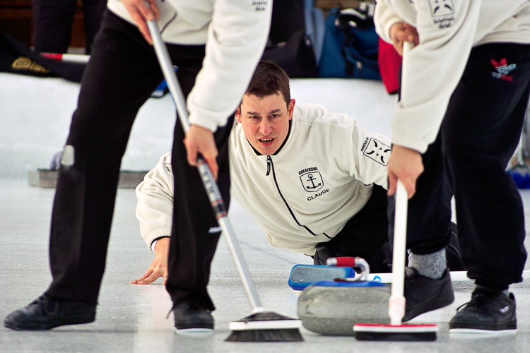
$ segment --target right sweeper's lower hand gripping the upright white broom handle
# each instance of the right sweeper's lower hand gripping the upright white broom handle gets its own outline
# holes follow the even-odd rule
[[[423,160],[420,152],[400,145],[392,146],[388,162],[388,195],[394,195],[399,179],[407,189],[408,198],[412,198],[416,193],[416,180],[422,173]]]

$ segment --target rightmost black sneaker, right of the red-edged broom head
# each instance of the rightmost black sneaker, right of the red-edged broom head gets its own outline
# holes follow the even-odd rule
[[[449,321],[449,332],[516,330],[515,297],[500,289],[476,286],[471,301],[461,305]]]

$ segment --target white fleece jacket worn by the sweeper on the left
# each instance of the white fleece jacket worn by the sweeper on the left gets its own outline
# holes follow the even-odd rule
[[[206,57],[189,93],[189,123],[216,131],[235,111],[264,51],[272,0],[157,0],[162,38],[206,44]],[[108,8],[134,23],[120,0]]]

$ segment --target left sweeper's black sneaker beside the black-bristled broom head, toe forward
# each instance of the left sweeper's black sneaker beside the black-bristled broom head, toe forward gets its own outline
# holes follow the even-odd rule
[[[213,317],[208,309],[194,299],[182,299],[173,306],[178,332],[211,333]]]

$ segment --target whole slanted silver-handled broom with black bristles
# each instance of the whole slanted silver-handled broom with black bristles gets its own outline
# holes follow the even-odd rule
[[[177,106],[179,120],[184,132],[187,132],[189,130],[189,124],[186,102],[184,101],[184,94],[177,81],[177,77],[175,76],[175,71],[173,71],[172,62],[167,53],[167,47],[160,38],[157,24],[154,21],[147,21],[147,25],[149,32],[151,33],[153,47],[158,62],[160,63],[160,68],[162,68],[164,78],[167,81],[167,86],[173,100],[175,101],[175,105]],[[252,305],[251,315],[242,318],[240,321],[234,321],[229,324],[232,333],[226,338],[226,340],[231,342],[286,342],[304,340],[300,334],[302,321],[288,318],[287,316],[273,313],[271,311],[265,311],[259,300],[254,283],[249,275],[247,264],[245,263],[239,243],[235,237],[234,229],[228,219],[225,203],[220,195],[216,181],[213,179],[211,170],[208,167],[208,164],[206,164],[204,158],[200,156],[197,160],[197,164],[197,169],[199,169],[199,174],[201,174],[204,189],[206,189],[206,193],[208,193],[213,213],[215,213],[219,226],[223,230],[223,235],[228,242],[228,248],[230,249],[230,253],[232,253],[232,258],[234,259],[237,271],[240,274],[243,287],[245,287],[250,304]]]

